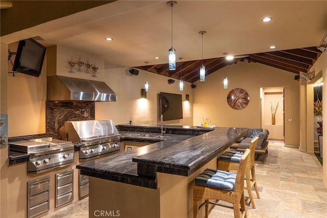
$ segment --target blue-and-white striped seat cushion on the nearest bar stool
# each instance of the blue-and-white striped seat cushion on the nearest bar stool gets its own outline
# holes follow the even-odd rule
[[[212,188],[219,188],[226,191],[233,191],[235,186],[236,173],[222,170],[205,169],[195,178],[196,185]]]

